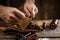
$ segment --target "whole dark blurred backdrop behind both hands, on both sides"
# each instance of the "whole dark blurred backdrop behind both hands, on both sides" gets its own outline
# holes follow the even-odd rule
[[[0,4],[19,7],[25,0],[0,0]],[[60,19],[60,0],[36,0],[39,9],[35,19]]]

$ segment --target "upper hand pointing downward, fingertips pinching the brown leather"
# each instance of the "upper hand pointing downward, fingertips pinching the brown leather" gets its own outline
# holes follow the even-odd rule
[[[38,8],[33,2],[25,2],[24,11],[28,17],[35,17],[35,15],[38,13]]]

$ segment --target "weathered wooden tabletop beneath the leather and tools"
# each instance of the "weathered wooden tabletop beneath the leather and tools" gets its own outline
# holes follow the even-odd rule
[[[46,22],[46,24],[50,23],[51,20],[35,20],[39,22]],[[60,21],[59,21],[60,24]],[[44,30],[42,32],[38,32],[37,35],[39,37],[60,37],[60,25],[55,30]],[[14,40],[15,36],[13,35],[4,35],[0,32],[0,40]]]

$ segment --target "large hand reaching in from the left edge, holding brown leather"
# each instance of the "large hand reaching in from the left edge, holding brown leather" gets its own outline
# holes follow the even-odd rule
[[[25,14],[13,7],[0,6],[0,18],[6,23],[19,21],[25,19]]]

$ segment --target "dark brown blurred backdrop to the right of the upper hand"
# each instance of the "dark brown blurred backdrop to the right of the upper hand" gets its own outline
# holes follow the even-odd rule
[[[39,9],[35,19],[60,19],[60,0],[36,0]]]

